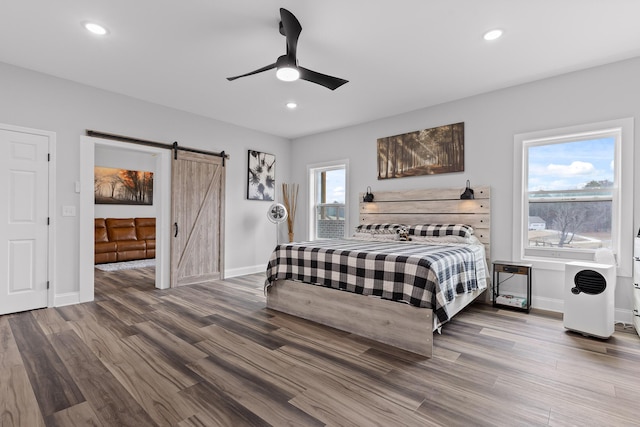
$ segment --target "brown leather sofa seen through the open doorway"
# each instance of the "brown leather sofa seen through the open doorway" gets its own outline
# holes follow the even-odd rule
[[[155,218],[95,219],[96,264],[155,257]]]

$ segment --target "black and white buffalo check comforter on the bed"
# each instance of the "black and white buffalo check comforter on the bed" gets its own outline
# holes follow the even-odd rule
[[[482,245],[324,240],[281,244],[266,286],[298,280],[433,309],[434,327],[449,320],[456,294],[487,287]]]

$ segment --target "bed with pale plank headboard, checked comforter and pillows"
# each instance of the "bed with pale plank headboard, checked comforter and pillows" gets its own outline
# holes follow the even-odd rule
[[[267,307],[431,357],[433,331],[488,286],[490,192],[474,190],[474,200],[460,200],[460,189],[376,192],[375,202],[360,203],[354,236],[372,227],[386,236],[279,245]],[[424,237],[440,227],[433,224],[449,224],[441,236],[472,228],[472,239]],[[399,227],[412,241],[397,241]]]

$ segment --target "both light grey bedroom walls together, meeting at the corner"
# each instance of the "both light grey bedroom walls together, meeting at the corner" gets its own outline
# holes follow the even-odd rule
[[[225,150],[227,163],[225,271],[237,275],[264,269],[275,244],[273,224],[266,219],[268,202],[246,200],[247,150],[277,156],[277,182],[297,182],[300,203],[296,239],[306,236],[306,166],[336,159],[350,161],[350,206],[358,193],[424,187],[492,187],[492,258],[511,257],[513,224],[513,136],[623,117],[640,128],[640,58],[540,80],[505,90],[389,117],[372,123],[290,141],[174,109],[142,102],[41,73],[0,63],[0,122],[56,132],[57,153],[57,293],[79,289],[78,217],[62,217],[63,205],[78,206],[79,140],[86,129],[211,151]],[[428,84],[426,82],[425,84]],[[203,91],[203,96],[211,96]],[[465,122],[465,172],[377,181],[376,139],[449,123]],[[338,153],[336,155],[335,153]],[[336,157],[337,156],[337,157]],[[637,163],[640,150],[635,150]],[[295,160],[294,160],[295,159]],[[290,165],[290,168],[287,167]],[[640,175],[635,176],[634,233],[640,224]],[[278,197],[280,192],[278,191]],[[631,215],[632,213],[628,213]],[[350,210],[357,224],[358,210]],[[282,227],[286,229],[286,227]],[[282,231],[282,230],[281,230]],[[286,230],[285,230],[286,231]],[[285,232],[282,232],[284,239]],[[631,256],[631,248],[628,248]],[[562,277],[534,271],[533,304],[557,307]],[[616,307],[631,308],[631,280],[621,278]],[[618,316],[617,318],[620,318]]]

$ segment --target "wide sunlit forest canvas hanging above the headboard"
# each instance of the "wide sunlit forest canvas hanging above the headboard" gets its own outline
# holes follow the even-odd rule
[[[378,179],[464,171],[464,122],[378,139]]]

